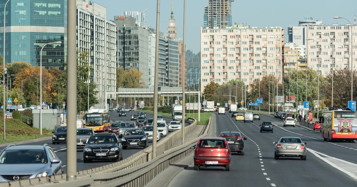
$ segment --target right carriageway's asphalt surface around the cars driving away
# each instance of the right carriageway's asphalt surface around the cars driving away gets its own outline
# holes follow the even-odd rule
[[[243,123],[231,114],[214,115],[208,136],[221,131],[240,131],[245,140],[245,155],[232,154],[231,170],[192,164],[180,172],[169,186],[345,186],[357,182],[357,143],[327,142],[320,131],[301,127],[283,127],[283,121],[261,115],[261,120]],[[271,121],[274,133],[260,133],[259,125]],[[274,159],[274,144],[282,136],[297,136],[307,142],[307,160],[295,157]],[[189,156],[193,156],[192,154]],[[184,179],[184,180],[183,180]]]

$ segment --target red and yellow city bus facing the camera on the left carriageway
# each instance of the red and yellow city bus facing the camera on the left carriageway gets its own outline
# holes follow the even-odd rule
[[[110,126],[109,111],[104,109],[90,109],[84,116],[85,127],[94,131],[106,131]]]

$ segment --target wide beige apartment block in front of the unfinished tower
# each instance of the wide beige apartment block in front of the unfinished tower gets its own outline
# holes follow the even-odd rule
[[[268,74],[281,81],[283,42],[282,27],[201,28],[201,90],[210,81],[250,86]]]

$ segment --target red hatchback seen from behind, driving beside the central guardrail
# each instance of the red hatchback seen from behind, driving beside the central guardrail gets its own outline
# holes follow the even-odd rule
[[[193,156],[194,168],[200,167],[225,167],[229,171],[231,166],[231,150],[224,137],[202,137],[195,146]]]

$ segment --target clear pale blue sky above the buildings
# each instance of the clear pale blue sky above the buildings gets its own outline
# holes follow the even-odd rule
[[[89,1],[89,0],[86,0]],[[114,20],[114,16],[123,15],[123,11],[143,12],[147,9],[146,25],[156,28],[157,0],[93,0],[106,7],[106,19]],[[173,0],[174,18],[177,37],[183,38],[183,3],[184,0]],[[187,50],[193,53],[200,51],[200,28],[203,26],[204,6],[208,0],[186,0],[186,35]],[[312,17],[312,20],[323,21],[325,25],[345,25],[347,20],[354,23],[357,9],[356,0],[325,1],[286,1],[286,0],[235,0],[232,2],[232,23],[245,24],[251,27],[265,28],[298,25],[301,20]],[[171,0],[160,0],[160,31],[167,33],[171,16]],[[333,19],[334,16],[345,19]]]

